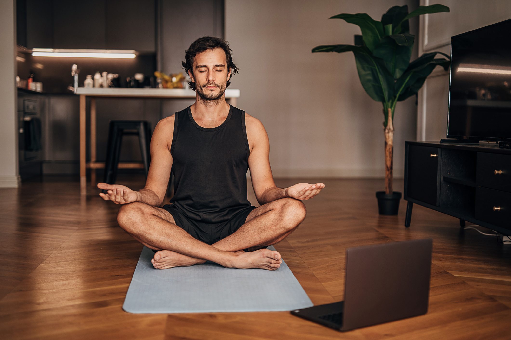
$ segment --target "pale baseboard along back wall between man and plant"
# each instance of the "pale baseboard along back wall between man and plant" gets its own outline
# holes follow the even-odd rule
[[[385,178],[382,168],[365,169],[272,169],[274,178]],[[404,169],[394,169],[394,178],[403,178]],[[250,170],[247,172],[250,178]]]

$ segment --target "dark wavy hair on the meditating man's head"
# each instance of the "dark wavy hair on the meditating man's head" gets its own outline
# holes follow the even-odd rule
[[[186,72],[187,75],[188,75],[189,70],[192,74],[194,74],[193,73],[193,62],[194,62],[195,56],[198,53],[201,53],[205,50],[213,49],[213,48],[217,48],[217,47],[220,47],[224,50],[225,57],[226,57],[225,59],[226,59],[226,63],[227,63],[227,72],[229,72],[229,69],[230,69],[230,77],[227,80],[227,86],[226,86],[226,88],[227,88],[227,87],[229,87],[230,79],[233,77],[233,74],[238,73],[239,69],[233,63],[233,50],[229,48],[229,44],[225,40],[223,40],[221,38],[217,38],[217,37],[211,37],[211,36],[204,36],[204,37],[198,38],[197,40],[192,42],[190,47],[188,47],[188,49],[185,51],[184,61],[181,61],[181,65],[183,66],[184,72]],[[191,79],[188,82],[188,84],[190,85],[190,88],[195,91],[195,83],[192,82]]]

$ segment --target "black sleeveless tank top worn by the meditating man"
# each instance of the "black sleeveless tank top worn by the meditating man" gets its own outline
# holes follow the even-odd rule
[[[190,106],[175,113],[170,203],[195,221],[225,222],[251,205],[245,111],[229,106],[227,119],[213,128],[198,125]]]

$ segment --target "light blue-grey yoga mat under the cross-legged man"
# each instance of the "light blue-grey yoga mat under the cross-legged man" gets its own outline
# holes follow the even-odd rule
[[[212,261],[155,269],[153,256],[144,246],[124,300],[127,312],[283,311],[313,306],[284,259],[277,270],[225,268]]]

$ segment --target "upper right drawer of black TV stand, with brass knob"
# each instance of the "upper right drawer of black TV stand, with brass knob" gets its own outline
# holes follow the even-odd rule
[[[511,155],[477,152],[476,184],[511,192]]]

